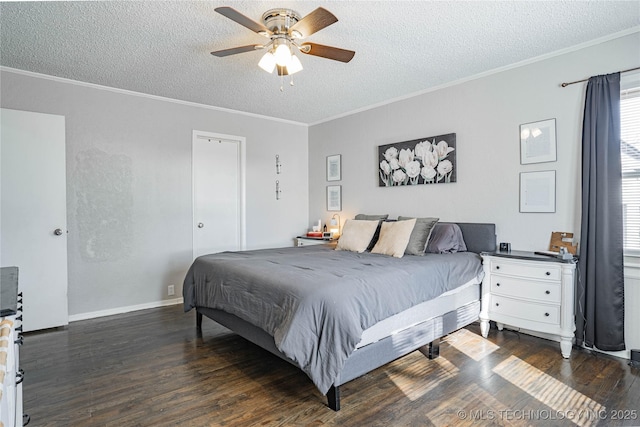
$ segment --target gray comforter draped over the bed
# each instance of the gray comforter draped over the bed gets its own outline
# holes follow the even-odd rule
[[[471,252],[393,258],[325,245],[197,258],[184,309],[221,309],[262,328],[326,394],[363,330],[480,278]]]

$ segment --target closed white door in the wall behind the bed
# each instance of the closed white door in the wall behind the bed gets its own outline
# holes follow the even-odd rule
[[[244,249],[244,140],[193,132],[193,257]]]

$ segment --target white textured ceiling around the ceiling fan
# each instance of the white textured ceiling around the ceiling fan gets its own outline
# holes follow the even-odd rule
[[[262,52],[209,54],[265,40],[218,6],[255,21],[274,7],[304,16],[322,6],[339,21],[305,41],[356,55],[301,55],[304,70],[281,92],[257,66]],[[637,28],[640,1],[2,2],[0,25],[6,67],[317,123]]]

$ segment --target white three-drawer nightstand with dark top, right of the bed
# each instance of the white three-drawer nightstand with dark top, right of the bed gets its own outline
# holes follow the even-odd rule
[[[480,331],[489,333],[493,320],[522,332],[560,342],[564,358],[571,355],[574,331],[576,261],[533,252],[482,253]]]

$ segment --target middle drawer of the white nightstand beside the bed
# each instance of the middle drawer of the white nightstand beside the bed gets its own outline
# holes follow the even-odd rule
[[[510,276],[491,275],[491,293],[551,304],[560,304],[562,301],[559,283]]]

